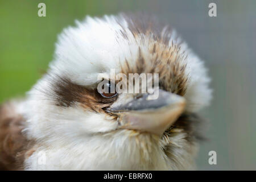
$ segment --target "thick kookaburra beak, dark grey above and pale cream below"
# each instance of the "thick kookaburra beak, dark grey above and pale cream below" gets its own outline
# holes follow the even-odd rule
[[[149,100],[150,94],[139,94],[132,101],[108,110],[119,115],[121,129],[145,131],[162,136],[183,113],[185,99],[159,89],[159,96]]]

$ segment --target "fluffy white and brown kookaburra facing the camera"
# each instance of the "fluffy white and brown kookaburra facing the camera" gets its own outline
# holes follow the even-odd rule
[[[98,75],[110,69],[158,73],[158,98],[99,93]],[[26,98],[1,106],[0,168],[194,169],[209,81],[172,28],[143,16],[87,16],[59,35],[46,75]]]

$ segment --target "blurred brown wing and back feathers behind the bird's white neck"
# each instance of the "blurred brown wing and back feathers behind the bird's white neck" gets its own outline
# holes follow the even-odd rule
[[[0,170],[23,169],[28,146],[22,134],[24,118],[15,112],[15,106],[9,102],[0,107]]]

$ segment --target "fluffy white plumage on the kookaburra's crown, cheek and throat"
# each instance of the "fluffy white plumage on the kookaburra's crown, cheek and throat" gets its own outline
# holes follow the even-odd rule
[[[66,76],[76,84],[88,86],[97,82],[99,73],[109,74],[110,68],[120,71],[119,63],[125,60],[135,64],[139,47],[143,55],[150,55],[148,46],[154,41],[143,34],[135,38],[128,26],[122,15],[104,18],[87,16],[82,22],[76,21],[76,27],[65,28],[59,35],[55,58],[48,73]],[[123,31],[127,38],[123,38]],[[169,46],[179,42],[172,32]],[[188,54],[185,73],[189,75],[189,80],[184,95],[187,100],[186,111],[196,112],[209,104],[209,77],[203,61],[188,49],[187,44],[182,43],[180,46],[180,52]],[[48,102],[40,90],[49,87],[49,79],[46,75],[39,80],[28,92],[27,100],[18,108],[19,113],[27,119],[24,133],[28,139],[38,141],[36,151],[25,161],[26,169],[193,168],[192,156],[195,155],[197,144],[189,144],[184,139],[185,133],[175,135],[171,141],[181,146],[173,151],[180,161],[175,161],[176,158],[167,159],[162,150],[166,142],[164,140],[159,142],[152,135],[142,135],[131,130],[115,131],[117,122],[105,114],[85,111],[79,105],[59,107]],[[131,139],[133,135],[137,136],[137,140]],[[140,148],[148,150],[142,151]],[[192,151],[192,148],[195,152],[190,154],[188,151]],[[42,151],[46,154],[45,165],[38,164]],[[149,163],[143,161],[147,159]]]

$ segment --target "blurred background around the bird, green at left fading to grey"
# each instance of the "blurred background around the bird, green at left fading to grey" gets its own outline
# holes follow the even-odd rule
[[[38,4],[46,3],[46,17]],[[215,2],[217,17],[208,16]],[[256,169],[256,1],[0,0],[0,102],[24,96],[52,60],[57,34],[85,15],[146,12],[168,22],[205,60],[214,89],[198,169]],[[217,152],[209,165],[208,152]]]

